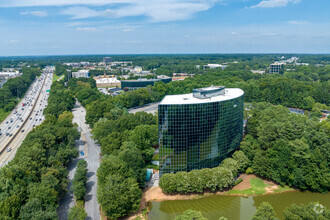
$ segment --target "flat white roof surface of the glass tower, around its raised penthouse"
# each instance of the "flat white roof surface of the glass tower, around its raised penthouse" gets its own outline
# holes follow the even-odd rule
[[[213,89],[218,86],[213,86]],[[220,87],[222,88],[222,87]],[[202,91],[210,91],[212,87],[201,88]],[[199,89],[199,90],[201,90]],[[160,105],[185,105],[185,104],[203,104],[203,103],[212,103],[212,102],[221,102],[230,99],[235,99],[244,94],[244,91],[238,88],[224,88],[224,94],[209,97],[209,98],[196,98],[193,93],[182,94],[182,95],[167,95],[159,103]]]

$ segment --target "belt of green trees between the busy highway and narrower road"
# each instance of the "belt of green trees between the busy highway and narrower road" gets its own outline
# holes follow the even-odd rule
[[[53,115],[49,105],[44,123],[27,135],[15,158],[0,169],[1,219],[58,219],[58,200],[67,190],[66,166],[78,155],[79,138],[67,104],[74,97],[67,94],[61,99],[62,90],[63,85],[55,82],[50,100],[53,106],[67,108]]]

